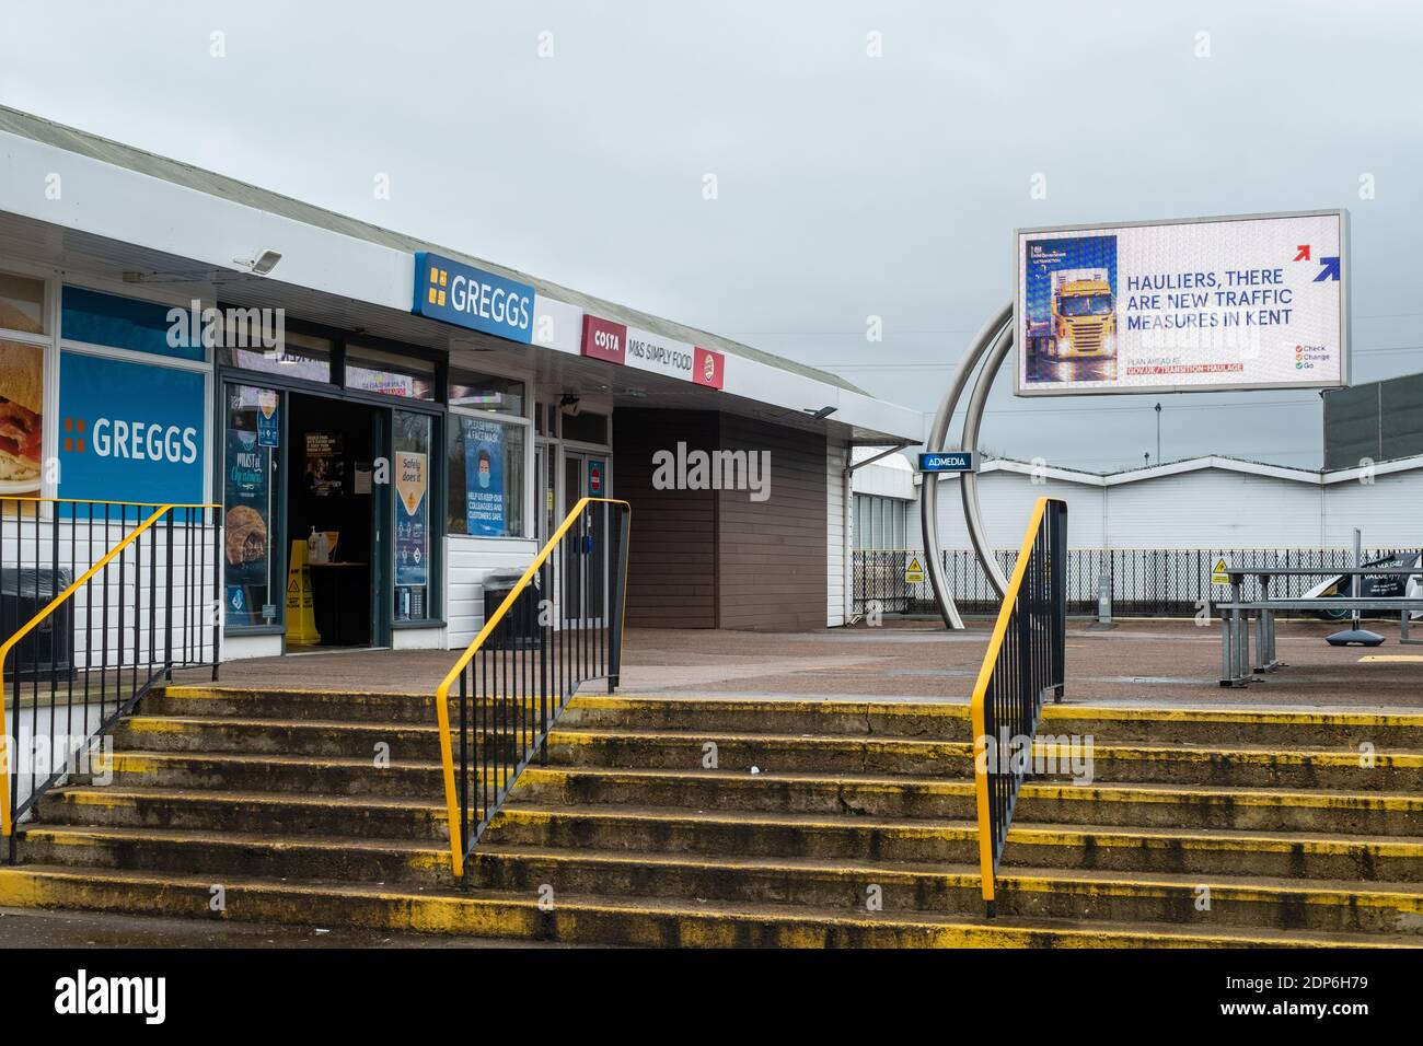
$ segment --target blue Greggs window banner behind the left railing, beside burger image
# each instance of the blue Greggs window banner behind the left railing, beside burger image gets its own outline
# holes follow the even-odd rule
[[[201,373],[60,356],[60,497],[202,501],[208,400]]]

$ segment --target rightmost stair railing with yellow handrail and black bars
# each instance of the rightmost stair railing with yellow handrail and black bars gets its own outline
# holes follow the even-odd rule
[[[969,706],[979,868],[989,915],[995,912],[993,879],[1013,823],[1013,805],[1032,768],[1043,697],[1050,690],[1062,700],[1066,682],[1066,564],[1067,502],[1040,498]]]

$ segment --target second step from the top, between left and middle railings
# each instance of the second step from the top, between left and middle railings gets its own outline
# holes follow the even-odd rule
[[[519,740],[512,731],[472,730],[471,739],[501,740],[508,757]],[[458,744],[458,740],[455,740]],[[128,716],[114,727],[115,749],[148,751],[242,751],[283,756],[340,756],[398,760],[440,759],[433,723],[353,723],[340,720],[233,719],[226,716]]]

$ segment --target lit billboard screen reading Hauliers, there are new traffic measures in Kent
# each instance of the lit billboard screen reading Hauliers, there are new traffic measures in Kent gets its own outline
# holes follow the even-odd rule
[[[1019,229],[1019,396],[1348,384],[1342,211]]]

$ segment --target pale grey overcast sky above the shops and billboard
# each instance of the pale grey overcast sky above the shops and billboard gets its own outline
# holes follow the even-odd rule
[[[1349,208],[1355,380],[1423,370],[1409,0],[44,0],[0,20],[7,105],[925,411],[1029,225]],[[1155,458],[1158,397],[1010,386],[986,447]],[[1204,453],[1318,467],[1319,397],[1164,397],[1163,457]]]

